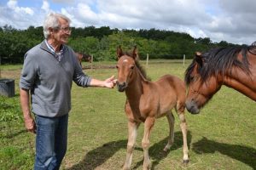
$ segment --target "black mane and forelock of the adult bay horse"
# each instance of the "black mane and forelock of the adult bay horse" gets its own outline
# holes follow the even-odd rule
[[[187,85],[191,82],[190,75],[194,70],[195,65],[198,65],[197,72],[201,76],[201,82],[206,82],[208,77],[217,77],[221,74],[228,73],[233,67],[240,68],[241,71],[250,75],[249,62],[247,60],[247,51],[253,46],[237,46],[229,48],[214,48],[210,51],[201,54],[201,59],[198,56],[193,59],[185,72],[185,82]],[[237,55],[241,52],[242,60],[237,59]]]

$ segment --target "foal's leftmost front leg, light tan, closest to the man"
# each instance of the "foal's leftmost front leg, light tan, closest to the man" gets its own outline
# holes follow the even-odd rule
[[[137,138],[137,128],[139,127],[139,125],[140,123],[138,122],[128,121],[128,143],[127,143],[125,165],[123,167],[124,170],[131,168],[132,151],[135,147],[135,142]]]

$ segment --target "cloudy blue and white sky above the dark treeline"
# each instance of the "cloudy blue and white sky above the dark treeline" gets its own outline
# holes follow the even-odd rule
[[[255,0],[1,0],[0,26],[43,26],[61,13],[71,26],[158,29],[250,45],[256,41]]]

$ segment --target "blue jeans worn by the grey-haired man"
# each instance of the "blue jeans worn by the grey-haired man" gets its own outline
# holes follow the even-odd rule
[[[68,114],[35,116],[37,124],[35,170],[57,170],[67,151]]]

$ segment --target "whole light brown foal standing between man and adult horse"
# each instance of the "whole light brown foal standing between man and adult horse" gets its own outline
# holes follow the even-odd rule
[[[177,77],[165,75],[157,82],[146,79],[145,72],[139,65],[137,48],[132,54],[124,54],[122,49],[117,49],[118,70],[117,88],[119,92],[126,94],[125,114],[128,119],[128,144],[125,165],[123,169],[130,169],[132,151],[137,138],[137,128],[144,122],[143,135],[143,169],[150,169],[151,163],[148,156],[149,136],[156,118],[166,116],[169,122],[169,138],[165,151],[169,150],[174,140],[174,116],[175,108],[181,121],[180,127],[183,133],[183,162],[189,162],[187,144],[187,125],[184,116],[186,89],[185,83]]]

